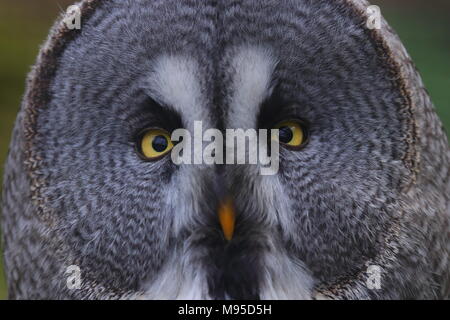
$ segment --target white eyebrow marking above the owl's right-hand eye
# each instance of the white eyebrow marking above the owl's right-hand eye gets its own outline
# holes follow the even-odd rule
[[[228,121],[235,128],[256,128],[260,105],[273,90],[272,76],[277,61],[271,50],[244,46],[236,50],[232,61],[234,72]]]

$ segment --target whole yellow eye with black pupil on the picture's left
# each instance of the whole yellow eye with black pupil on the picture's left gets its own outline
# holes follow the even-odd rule
[[[156,160],[173,148],[170,134],[162,129],[149,129],[140,138],[140,151],[148,160]]]

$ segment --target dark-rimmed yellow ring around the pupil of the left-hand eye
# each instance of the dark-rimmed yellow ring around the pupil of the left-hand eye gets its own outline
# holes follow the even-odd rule
[[[152,127],[140,131],[136,137],[135,150],[138,156],[144,161],[157,161],[164,158],[174,147],[170,138],[170,133],[162,128]],[[163,151],[154,148],[155,138],[163,137],[166,139],[167,146]],[[149,143],[152,142],[150,145]],[[147,145],[145,145],[147,144]]]

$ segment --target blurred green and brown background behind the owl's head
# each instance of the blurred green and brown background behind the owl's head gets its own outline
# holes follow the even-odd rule
[[[58,13],[74,1],[0,0],[0,176],[25,76]],[[450,131],[450,1],[372,0],[399,33]],[[0,187],[1,188],[1,187]],[[0,299],[6,298],[0,258]]]

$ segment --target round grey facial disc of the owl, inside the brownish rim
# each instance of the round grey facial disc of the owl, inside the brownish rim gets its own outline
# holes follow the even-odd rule
[[[408,182],[409,124],[394,67],[356,8],[112,0],[82,21],[36,146],[53,232],[83,284],[147,298],[311,298],[378,254]],[[281,144],[273,176],[176,165],[170,134],[195,121],[222,131],[294,121],[309,141]]]

